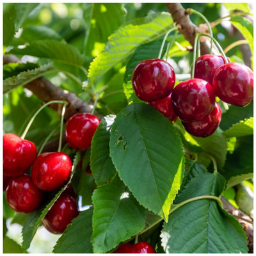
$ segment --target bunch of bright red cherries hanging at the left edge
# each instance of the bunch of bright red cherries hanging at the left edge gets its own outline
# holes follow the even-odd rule
[[[85,150],[100,119],[88,113],[72,116],[65,127],[68,145]],[[63,152],[45,152],[36,157],[35,144],[11,133],[3,135],[3,180],[6,200],[20,213],[35,211],[44,201],[46,191],[55,191],[70,178],[72,161]],[[32,167],[32,168],[31,168]],[[31,168],[31,175],[26,174]],[[72,186],[61,193],[42,223],[47,230],[61,234],[78,215]]]

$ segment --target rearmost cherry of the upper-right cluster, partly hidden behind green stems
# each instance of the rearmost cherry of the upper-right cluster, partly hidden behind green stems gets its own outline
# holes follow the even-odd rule
[[[200,78],[212,84],[216,69],[225,64],[223,56],[204,54],[195,61],[195,78]]]

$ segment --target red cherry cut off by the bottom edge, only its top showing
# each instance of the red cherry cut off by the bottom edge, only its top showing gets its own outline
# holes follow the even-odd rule
[[[139,242],[136,244],[121,244],[115,253],[156,253],[154,247],[147,242]]]

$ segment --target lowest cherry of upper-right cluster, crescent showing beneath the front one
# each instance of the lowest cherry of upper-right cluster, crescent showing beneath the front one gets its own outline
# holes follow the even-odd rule
[[[210,136],[218,128],[221,121],[220,105],[215,102],[214,109],[203,120],[197,122],[182,122],[186,131],[196,137]]]

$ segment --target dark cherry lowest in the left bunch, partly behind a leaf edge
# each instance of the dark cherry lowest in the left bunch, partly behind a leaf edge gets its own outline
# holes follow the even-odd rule
[[[53,234],[62,234],[67,225],[78,215],[73,196],[64,194],[56,200],[42,220],[44,227]]]

